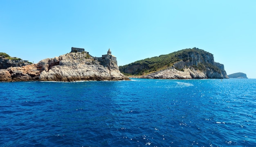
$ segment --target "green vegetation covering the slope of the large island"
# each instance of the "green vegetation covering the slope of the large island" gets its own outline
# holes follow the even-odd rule
[[[168,67],[172,67],[178,61],[190,61],[193,62],[191,55],[200,54],[203,62],[198,65],[191,65],[194,69],[199,69],[200,71],[206,71],[207,67],[213,69],[214,71],[220,72],[220,69],[210,63],[207,63],[207,57],[213,56],[211,53],[204,51],[202,49],[193,48],[193,49],[182,49],[180,51],[175,51],[166,55],[160,55],[152,58],[146,58],[144,60],[138,60],[136,62],[130,63],[128,65],[120,66],[119,69],[122,73],[130,73],[132,75],[143,75],[147,73],[152,73],[155,71],[160,71]],[[194,59],[195,60],[195,59]],[[177,70],[184,71],[184,69]],[[129,71],[129,72],[125,72]]]

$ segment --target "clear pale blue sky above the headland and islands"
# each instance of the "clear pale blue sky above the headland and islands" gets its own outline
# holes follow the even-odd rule
[[[37,63],[71,47],[119,66],[198,47],[256,78],[256,0],[0,0],[0,52]]]

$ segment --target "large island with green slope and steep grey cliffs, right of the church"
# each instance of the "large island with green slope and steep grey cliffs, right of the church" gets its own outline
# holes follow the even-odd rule
[[[119,69],[126,76],[139,78],[229,78],[224,65],[215,62],[213,54],[196,47],[138,60],[128,65],[120,66]]]

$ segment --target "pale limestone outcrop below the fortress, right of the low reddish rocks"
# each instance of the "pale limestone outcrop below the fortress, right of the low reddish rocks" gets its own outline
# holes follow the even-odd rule
[[[128,80],[111,60],[99,62],[72,52],[38,62],[41,81]]]

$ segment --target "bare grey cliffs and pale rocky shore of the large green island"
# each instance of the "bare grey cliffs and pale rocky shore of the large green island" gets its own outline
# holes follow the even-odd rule
[[[200,54],[190,52],[187,54],[189,60],[179,61],[172,67],[158,72],[150,73],[141,78],[161,79],[205,79],[205,78],[228,78],[224,65],[214,62],[211,53]],[[184,58],[180,56],[179,58]]]

